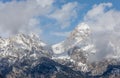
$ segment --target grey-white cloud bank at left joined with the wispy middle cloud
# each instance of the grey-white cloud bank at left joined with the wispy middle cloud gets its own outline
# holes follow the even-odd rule
[[[51,25],[65,28],[76,17],[76,2],[69,2],[58,8],[55,0],[13,0],[0,2],[0,36],[8,37],[18,33],[41,34],[44,25],[40,17],[56,20]],[[47,24],[47,23],[46,23]]]

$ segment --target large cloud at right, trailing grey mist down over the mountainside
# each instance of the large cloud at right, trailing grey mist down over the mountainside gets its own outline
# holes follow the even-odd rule
[[[84,21],[90,25],[92,29],[93,42],[96,44],[98,54],[96,57],[102,59],[111,53],[114,53],[114,48],[109,45],[110,42],[114,46],[120,45],[120,11],[112,8],[111,3],[101,3],[94,5],[87,12]]]

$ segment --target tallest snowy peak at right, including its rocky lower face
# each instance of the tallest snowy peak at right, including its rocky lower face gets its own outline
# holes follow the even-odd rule
[[[80,67],[81,71],[87,71],[87,60],[90,54],[96,52],[89,36],[90,28],[87,24],[79,24],[66,40],[52,46],[53,59],[68,60]]]

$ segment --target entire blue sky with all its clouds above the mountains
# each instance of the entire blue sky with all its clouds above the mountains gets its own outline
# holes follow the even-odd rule
[[[33,32],[53,44],[85,22],[94,41],[119,37],[119,5],[120,0],[0,0],[0,36]]]

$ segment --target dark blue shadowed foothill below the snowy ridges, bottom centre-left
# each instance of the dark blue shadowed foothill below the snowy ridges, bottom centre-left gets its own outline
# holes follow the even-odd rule
[[[29,60],[9,67],[8,73],[3,77],[7,78],[84,78],[81,72],[76,72],[71,68],[61,65],[47,57],[41,57],[38,64],[30,66]],[[30,63],[30,62],[29,62]],[[8,70],[7,69],[7,70]]]

